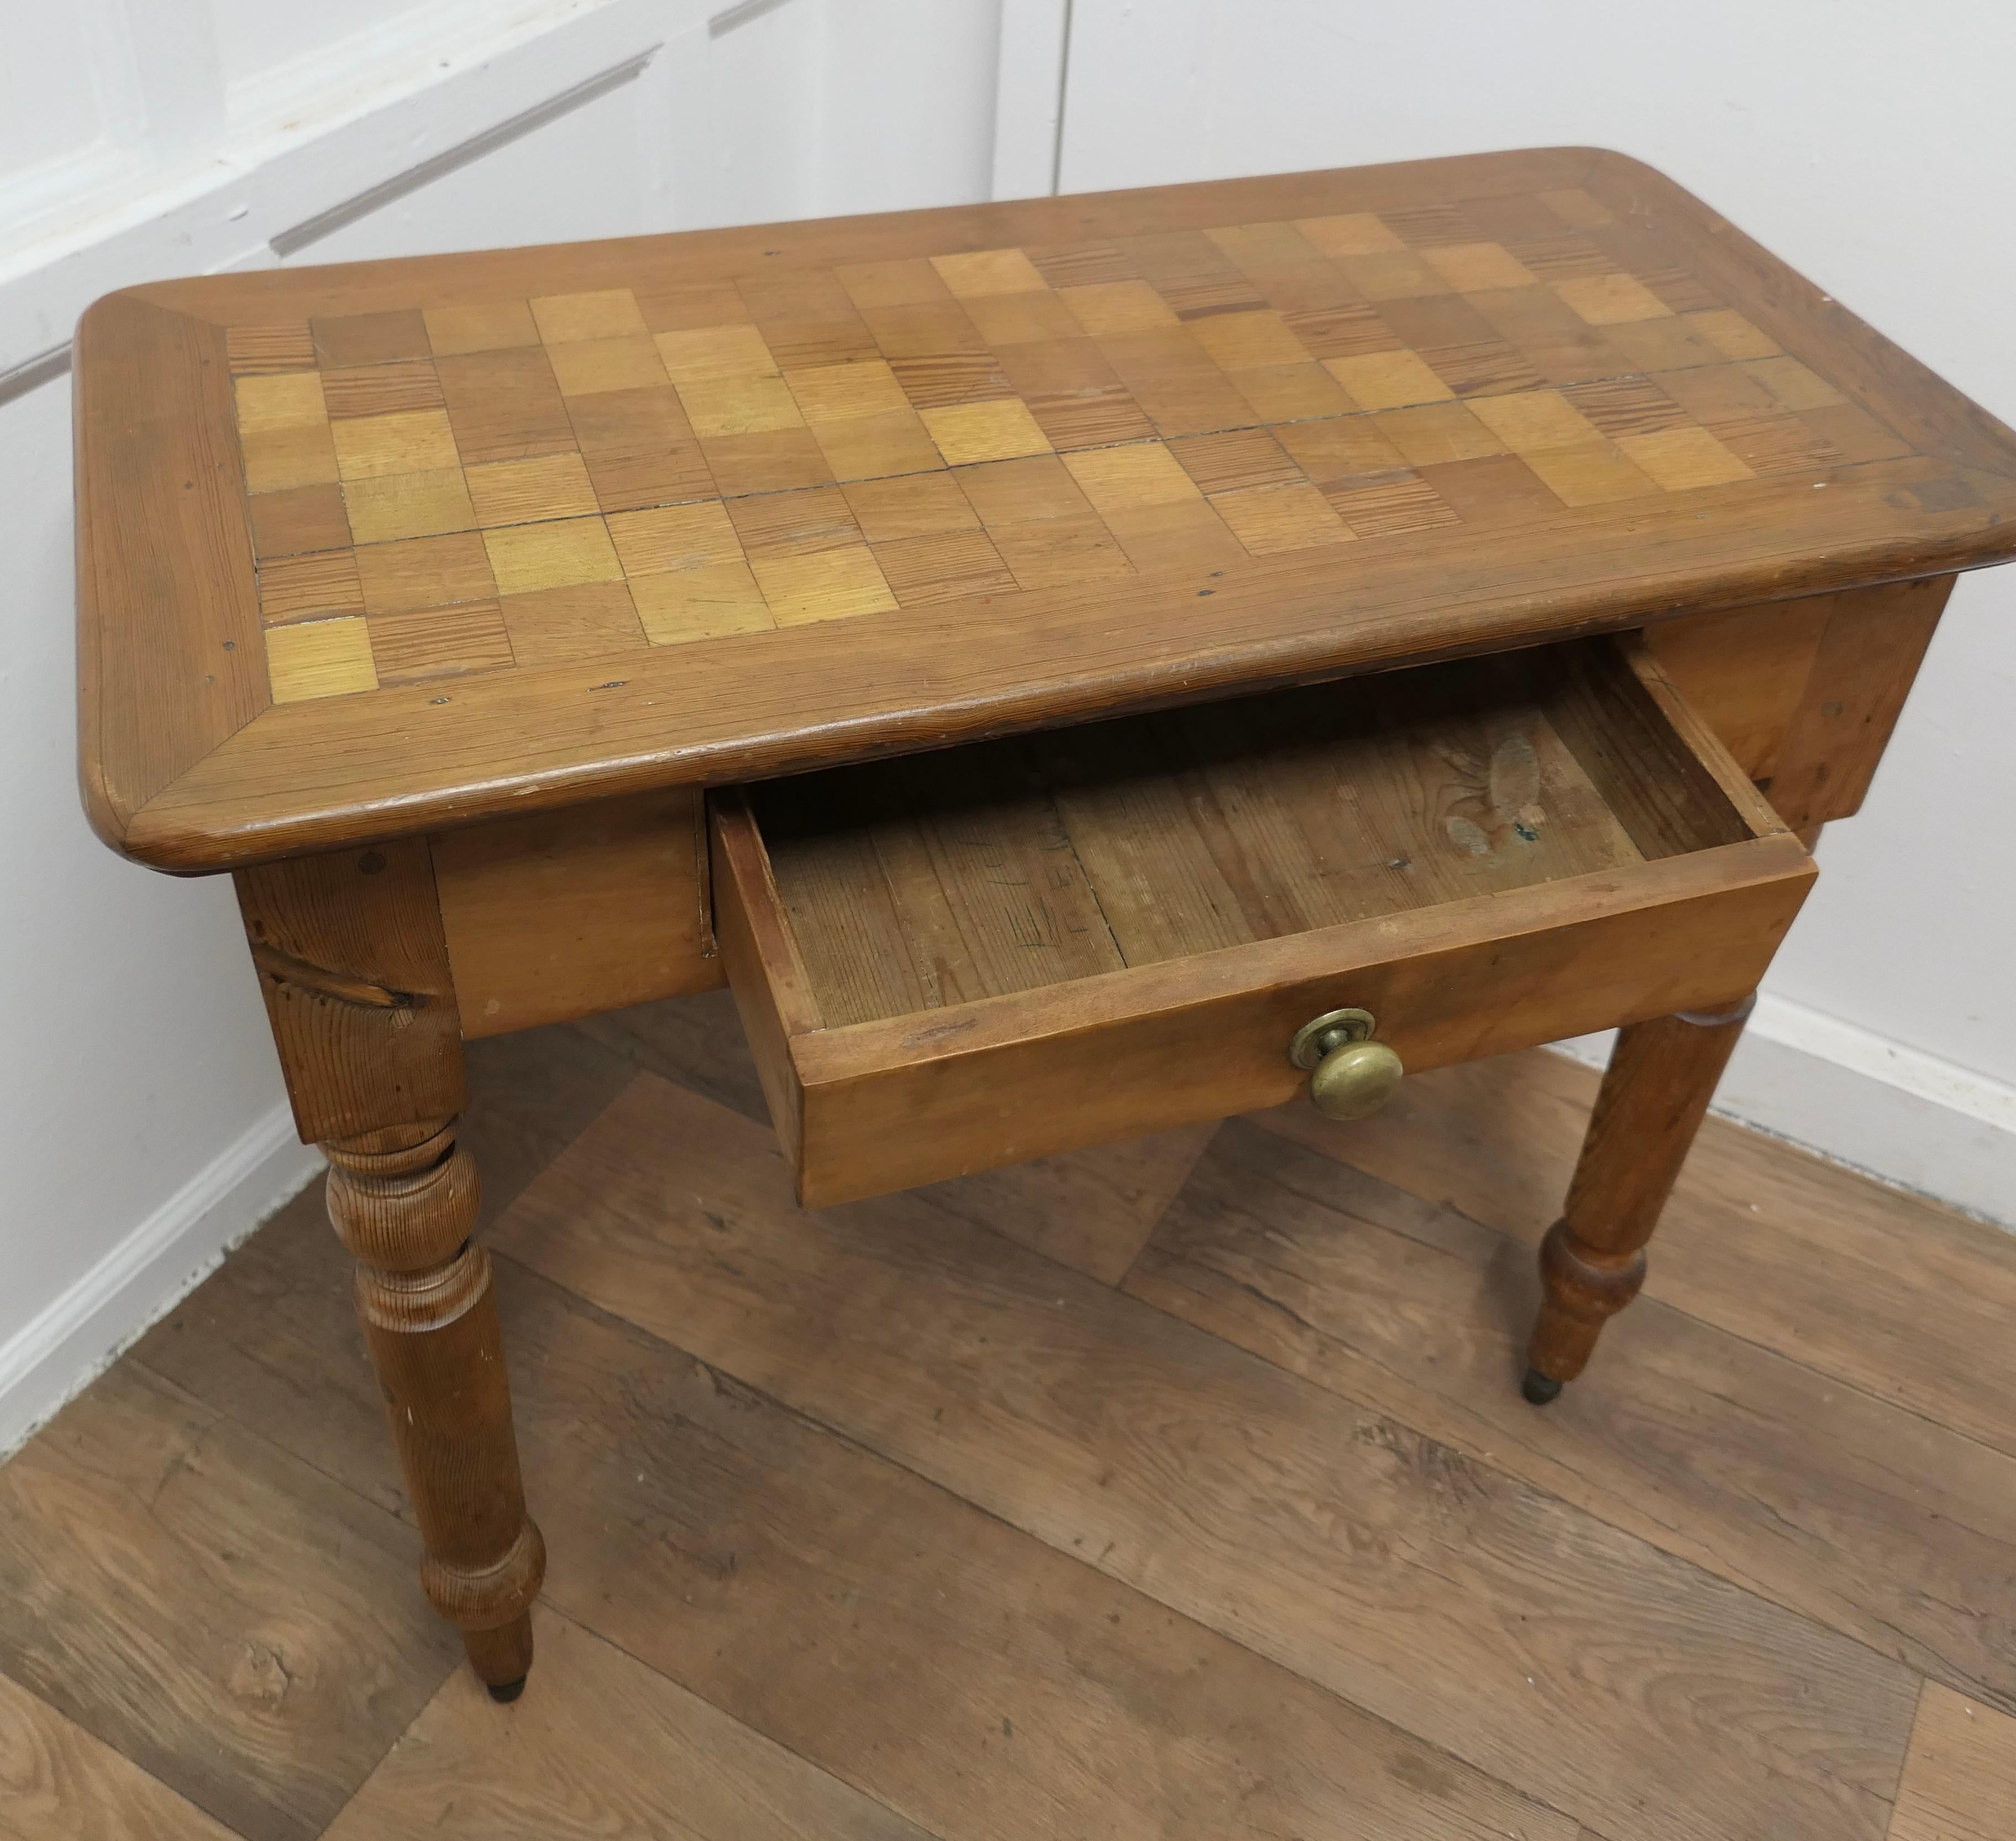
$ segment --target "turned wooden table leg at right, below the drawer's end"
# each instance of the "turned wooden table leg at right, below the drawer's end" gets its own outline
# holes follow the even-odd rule
[[[1540,1242],[1544,1297],[1522,1389],[1534,1405],[1546,1405],[1587,1367],[1603,1325],[1639,1295],[1645,1242],[1752,1002],[1619,1030],[1566,1206]]]

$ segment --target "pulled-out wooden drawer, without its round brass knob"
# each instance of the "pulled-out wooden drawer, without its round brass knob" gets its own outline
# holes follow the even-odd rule
[[[1812,859],[1635,641],[1572,641],[712,796],[716,930],[806,1206],[1762,976]]]

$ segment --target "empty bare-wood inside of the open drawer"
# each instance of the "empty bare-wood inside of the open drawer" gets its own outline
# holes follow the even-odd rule
[[[750,799],[829,1028],[1752,835],[1603,643],[772,780]]]

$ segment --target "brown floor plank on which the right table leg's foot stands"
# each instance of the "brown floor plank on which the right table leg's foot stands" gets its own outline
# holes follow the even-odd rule
[[[1526,1244],[1248,1121],[1125,1291],[2016,1710],[2016,1460],[1976,1440],[1655,1299],[1534,1412]]]

